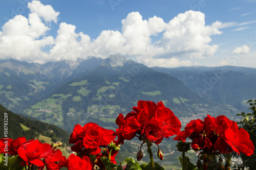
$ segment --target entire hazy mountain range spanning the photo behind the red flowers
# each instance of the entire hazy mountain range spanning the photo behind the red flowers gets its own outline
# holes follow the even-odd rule
[[[6,60],[0,61],[0,103],[72,130],[88,122],[114,129],[117,115],[129,113],[138,100],[162,101],[186,124],[206,114],[234,118],[256,94],[250,89],[255,72],[229,66],[149,68],[118,54],[45,64]]]

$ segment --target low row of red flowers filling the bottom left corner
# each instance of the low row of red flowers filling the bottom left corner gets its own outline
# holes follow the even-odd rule
[[[42,143],[39,140],[26,140],[25,137],[18,137],[13,140],[11,138],[2,138],[0,139],[0,148],[4,146],[4,142],[8,143],[7,150],[1,150],[0,153],[9,154],[10,156],[18,155],[22,158],[23,162],[20,163],[21,166],[26,166],[25,169],[44,169],[47,170],[59,170],[61,167],[67,167],[69,170],[79,169],[80,164],[88,164],[88,169],[91,170],[92,166],[90,164],[90,159],[84,159],[81,163],[80,160],[73,159],[70,157],[69,162],[65,162],[63,159],[66,159],[65,156],[62,156],[62,152],[59,149],[56,149],[57,146],[62,143],[53,143],[52,145],[48,143]],[[85,167],[85,166],[84,166]]]

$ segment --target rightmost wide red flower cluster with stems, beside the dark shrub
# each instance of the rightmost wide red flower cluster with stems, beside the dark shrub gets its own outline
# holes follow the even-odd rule
[[[230,167],[230,153],[232,151],[238,154],[243,153],[247,156],[253,154],[254,146],[250,140],[248,132],[238,127],[237,123],[229,120],[226,116],[207,117],[203,120],[191,120],[187,124],[184,131],[179,132],[174,140],[182,140],[186,138],[192,140],[191,147],[194,151],[201,151],[200,159],[203,160],[203,169],[208,169],[212,162],[217,164],[217,155],[220,158],[218,166],[223,169],[220,154],[224,154],[226,159],[225,169]],[[198,160],[198,166],[201,166]]]

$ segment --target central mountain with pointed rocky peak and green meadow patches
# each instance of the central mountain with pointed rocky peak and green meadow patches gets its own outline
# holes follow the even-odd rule
[[[67,130],[88,122],[113,128],[117,115],[129,113],[138,100],[162,101],[179,117],[199,118],[224,111],[234,115],[232,107],[217,106],[180,80],[118,55],[57,88],[24,114]]]

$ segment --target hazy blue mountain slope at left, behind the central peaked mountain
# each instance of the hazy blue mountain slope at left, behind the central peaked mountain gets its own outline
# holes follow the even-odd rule
[[[27,63],[0,62],[0,103],[21,113],[67,81],[78,78],[100,65],[102,59],[90,57],[76,62]]]

